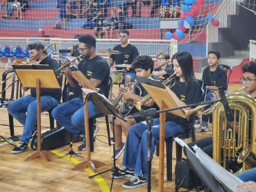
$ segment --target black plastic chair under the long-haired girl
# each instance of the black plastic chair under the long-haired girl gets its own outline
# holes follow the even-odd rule
[[[180,139],[189,139],[191,137],[192,141],[196,141],[195,129],[194,129],[194,121],[196,115],[193,117],[193,121],[191,121],[190,131],[185,134],[177,134],[173,137],[169,137],[165,139],[165,144],[167,146],[167,182],[171,182],[173,180],[172,173],[172,155],[173,155],[173,141],[174,138],[178,137]],[[159,156],[159,143],[156,145],[156,156]],[[176,142],[176,163],[181,161],[182,157],[182,147]]]

